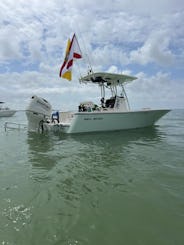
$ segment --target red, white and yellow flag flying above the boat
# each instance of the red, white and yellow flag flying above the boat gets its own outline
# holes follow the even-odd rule
[[[63,65],[61,66],[59,76],[71,81],[73,60],[80,59],[80,58],[82,58],[82,53],[76,35],[74,34],[72,40],[68,39],[65,59]]]

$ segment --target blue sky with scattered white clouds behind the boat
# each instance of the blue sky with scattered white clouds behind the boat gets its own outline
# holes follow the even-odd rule
[[[137,76],[126,85],[132,108],[184,108],[183,0],[0,0],[0,101],[25,109],[39,95],[53,108],[98,102],[87,71]],[[76,33],[83,59],[73,80],[59,78],[67,39]]]

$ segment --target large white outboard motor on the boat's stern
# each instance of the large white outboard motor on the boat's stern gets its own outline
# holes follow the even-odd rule
[[[28,120],[28,131],[43,131],[43,123],[51,118],[52,106],[45,99],[36,95],[31,97],[31,101],[26,108]]]

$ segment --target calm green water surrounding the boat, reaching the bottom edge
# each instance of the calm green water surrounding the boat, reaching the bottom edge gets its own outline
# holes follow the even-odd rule
[[[153,128],[75,136],[5,132],[6,120],[0,244],[184,244],[184,110]]]

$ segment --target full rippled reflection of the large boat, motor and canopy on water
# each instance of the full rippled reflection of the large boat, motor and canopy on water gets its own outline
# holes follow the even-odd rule
[[[112,187],[123,182],[126,191],[130,175],[133,180],[137,171],[149,171],[150,155],[162,140],[164,133],[156,126],[76,135],[29,133],[32,178],[39,182],[55,180],[58,192],[70,201],[79,198],[80,193],[93,192],[101,184]],[[138,162],[142,162],[139,169],[135,167]],[[124,174],[131,168],[131,174]],[[115,179],[110,174],[112,169]]]

